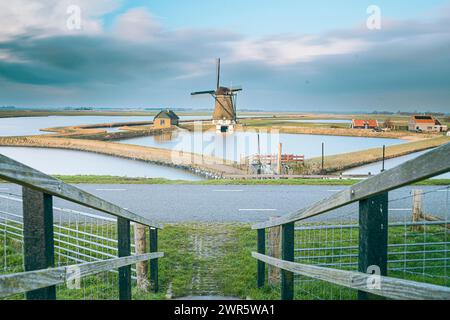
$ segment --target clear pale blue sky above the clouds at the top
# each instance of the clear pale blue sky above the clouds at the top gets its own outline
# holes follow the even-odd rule
[[[105,23],[130,8],[147,7],[168,28],[217,28],[247,35],[320,33],[349,28],[365,21],[366,9],[375,4],[383,15],[396,19],[426,19],[446,0],[128,0],[108,14]]]

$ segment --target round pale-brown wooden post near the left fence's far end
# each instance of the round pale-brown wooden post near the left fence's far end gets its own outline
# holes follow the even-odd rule
[[[147,253],[147,235],[145,230],[146,227],[144,225],[134,224],[134,246],[137,255]],[[136,263],[137,287],[142,292],[148,292],[150,289],[148,268],[148,261]]]

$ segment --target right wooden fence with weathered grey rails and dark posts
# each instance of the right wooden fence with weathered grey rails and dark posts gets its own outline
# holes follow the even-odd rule
[[[319,279],[358,290],[359,299],[382,296],[392,299],[450,299],[450,288],[387,276],[388,192],[450,171],[450,143],[410,160],[396,168],[364,180],[333,196],[292,214],[252,226],[257,230],[257,285],[265,285],[265,264],[281,272],[281,299],[294,298],[294,274]],[[359,202],[358,272],[338,270],[294,262],[294,224]],[[281,259],[267,256],[266,228],[281,226]],[[377,266],[378,278],[367,274]],[[375,275],[376,276],[376,275]],[[379,286],[370,286],[376,280]]]

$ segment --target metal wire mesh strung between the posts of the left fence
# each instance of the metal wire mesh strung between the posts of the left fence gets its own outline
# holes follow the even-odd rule
[[[55,267],[117,258],[117,219],[92,209],[72,207],[69,202],[59,199],[53,207]],[[131,241],[131,253],[134,254],[133,228]],[[0,273],[24,271],[20,194],[0,193],[0,250]],[[136,269],[131,270],[134,285]],[[82,278],[69,286],[59,285],[57,296],[58,299],[117,299],[117,282],[118,271],[110,270]]]

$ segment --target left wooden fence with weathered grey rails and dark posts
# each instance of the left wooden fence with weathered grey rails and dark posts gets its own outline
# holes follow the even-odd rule
[[[0,276],[0,297],[26,293],[27,299],[54,300],[56,285],[118,269],[119,298],[130,300],[131,265],[150,260],[150,282],[158,290],[160,223],[130,212],[86,191],[0,155],[0,179],[22,186],[25,272]],[[58,197],[117,217],[118,257],[55,268],[53,197]],[[131,255],[130,223],[150,229],[150,252]]]

